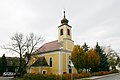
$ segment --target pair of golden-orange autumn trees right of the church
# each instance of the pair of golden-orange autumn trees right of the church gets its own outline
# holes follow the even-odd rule
[[[71,60],[78,73],[80,73],[80,70],[83,69],[91,71],[91,69],[100,64],[100,56],[94,49],[84,51],[79,45],[74,46],[71,53]]]

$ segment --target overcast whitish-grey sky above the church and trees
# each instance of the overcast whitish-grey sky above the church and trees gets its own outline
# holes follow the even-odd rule
[[[99,42],[120,53],[120,0],[0,0],[0,45],[16,32],[42,35],[45,42],[58,39],[64,10],[75,44]],[[0,49],[4,53],[14,56]]]

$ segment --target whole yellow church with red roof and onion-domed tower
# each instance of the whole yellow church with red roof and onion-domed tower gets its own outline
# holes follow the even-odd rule
[[[28,73],[76,73],[71,61],[71,51],[74,47],[72,26],[68,22],[64,11],[61,24],[58,26],[58,39],[45,43],[32,54]]]

